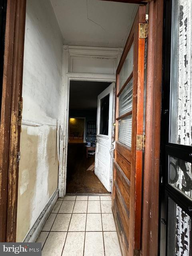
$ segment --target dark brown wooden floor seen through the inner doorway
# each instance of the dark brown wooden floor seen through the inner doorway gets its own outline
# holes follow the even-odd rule
[[[68,144],[67,193],[108,193],[94,172],[87,171],[94,158],[86,158],[84,144]]]

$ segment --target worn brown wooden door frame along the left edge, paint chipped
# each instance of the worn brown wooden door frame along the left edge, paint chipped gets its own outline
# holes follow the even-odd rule
[[[0,120],[0,242],[16,241],[25,15],[26,0],[7,0]]]

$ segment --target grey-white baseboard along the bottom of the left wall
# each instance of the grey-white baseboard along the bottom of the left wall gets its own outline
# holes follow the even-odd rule
[[[39,218],[36,220],[32,229],[29,231],[28,235],[23,242],[36,242],[48,216],[50,215],[57,199],[58,199],[58,189],[54,192],[49,202],[46,204],[44,210],[40,214]]]

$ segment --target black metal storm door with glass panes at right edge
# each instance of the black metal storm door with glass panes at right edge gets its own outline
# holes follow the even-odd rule
[[[192,256],[192,1],[166,0],[160,256]]]

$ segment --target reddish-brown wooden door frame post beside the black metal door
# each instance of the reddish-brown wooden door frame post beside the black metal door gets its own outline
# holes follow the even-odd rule
[[[163,0],[149,1],[142,256],[158,255]]]

